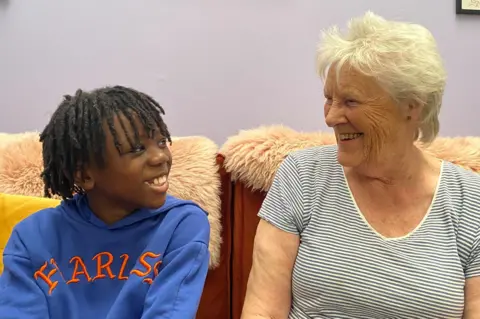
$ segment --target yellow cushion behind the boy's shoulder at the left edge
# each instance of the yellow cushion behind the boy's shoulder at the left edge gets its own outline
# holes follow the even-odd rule
[[[13,227],[25,217],[44,208],[60,204],[57,199],[33,196],[7,195],[0,193],[0,253],[7,244]],[[0,274],[3,272],[3,257],[0,259]]]

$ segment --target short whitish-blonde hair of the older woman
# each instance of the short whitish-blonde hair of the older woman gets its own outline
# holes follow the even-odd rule
[[[430,31],[418,24],[389,21],[369,11],[350,20],[346,33],[333,26],[322,35],[317,51],[322,79],[332,64],[337,72],[348,64],[375,78],[398,103],[421,105],[417,139],[430,143],[436,138],[446,71]]]

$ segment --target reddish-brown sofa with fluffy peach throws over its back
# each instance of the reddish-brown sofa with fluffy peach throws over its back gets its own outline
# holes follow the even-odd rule
[[[292,151],[333,143],[335,137],[331,133],[297,132],[281,125],[241,131],[220,148],[204,137],[174,139],[170,191],[181,198],[197,200],[212,215],[212,260],[197,319],[240,319],[259,221],[257,212],[278,166]],[[480,172],[478,137],[438,138],[429,146],[419,147]],[[39,200],[43,195],[38,177],[40,153],[35,133],[0,134],[0,193],[17,200],[13,207],[2,208],[0,196],[0,227],[2,216],[7,215],[5,209],[6,219],[10,220],[5,227],[13,227],[16,219],[12,215],[23,218],[15,213],[16,205],[27,198]],[[192,158],[195,165],[189,162]],[[204,179],[200,183],[203,188],[192,182],[198,181],[199,176]],[[197,194],[201,196],[195,197]],[[0,237],[0,250],[5,240]]]

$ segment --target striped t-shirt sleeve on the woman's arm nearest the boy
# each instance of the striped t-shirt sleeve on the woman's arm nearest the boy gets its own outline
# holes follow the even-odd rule
[[[258,216],[275,227],[299,235],[303,231],[303,194],[295,158],[280,164]]]

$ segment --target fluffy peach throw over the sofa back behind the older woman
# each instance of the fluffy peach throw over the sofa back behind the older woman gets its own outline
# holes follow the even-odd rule
[[[333,133],[297,132],[282,125],[262,126],[230,137],[220,153],[225,157],[224,167],[233,181],[266,192],[290,152],[335,143]],[[480,172],[480,137],[443,137],[427,147],[418,146],[438,158]]]

